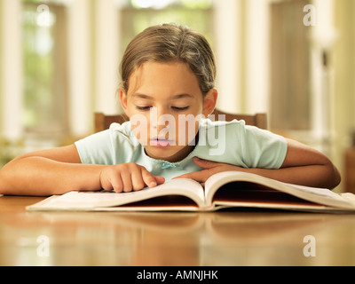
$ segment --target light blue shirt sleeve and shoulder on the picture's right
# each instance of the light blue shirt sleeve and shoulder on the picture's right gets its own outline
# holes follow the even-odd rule
[[[196,155],[201,159],[243,168],[280,169],[287,149],[285,138],[268,130],[245,125],[244,121],[206,120],[200,129]]]

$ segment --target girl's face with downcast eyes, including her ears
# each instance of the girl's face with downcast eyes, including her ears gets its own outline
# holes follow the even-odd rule
[[[203,98],[197,77],[183,62],[146,62],[130,75],[120,99],[146,154],[177,162],[193,150],[199,119],[213,111],[217,90]]]

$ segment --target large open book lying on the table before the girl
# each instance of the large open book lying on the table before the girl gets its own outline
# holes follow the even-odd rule
[[[289,209],[301,211],[353,211],[351,193],[291,185],[240,171],[217,173],[204,188],[189,178],[177,178],[137,192],[69,192],[53,195],[28,210],[184,210],[213,211],[225,208]]]

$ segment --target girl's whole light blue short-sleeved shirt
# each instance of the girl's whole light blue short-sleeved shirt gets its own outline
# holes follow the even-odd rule
[[[76,141],[75,146],[83,163],[114,165],[136,162],[154,176],[165,177],[166,181],[202,170],[193,162],[193,156],[243,168],[279,169],[288,149],[285,138],[245,125],[244,121],[212,122],[202,119],[198,135],[197,145],[180,162],[149,157],[133,134],[130,122],[113,123],[108,130]]]

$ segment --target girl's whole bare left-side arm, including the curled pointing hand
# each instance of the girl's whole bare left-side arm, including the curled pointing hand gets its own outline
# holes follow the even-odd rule
[[[144,167],[82,164],[75,145],[23,154],[0,170],[0,193],[47,196],[75,190],[114,189],[117,193],[162,184]]]

